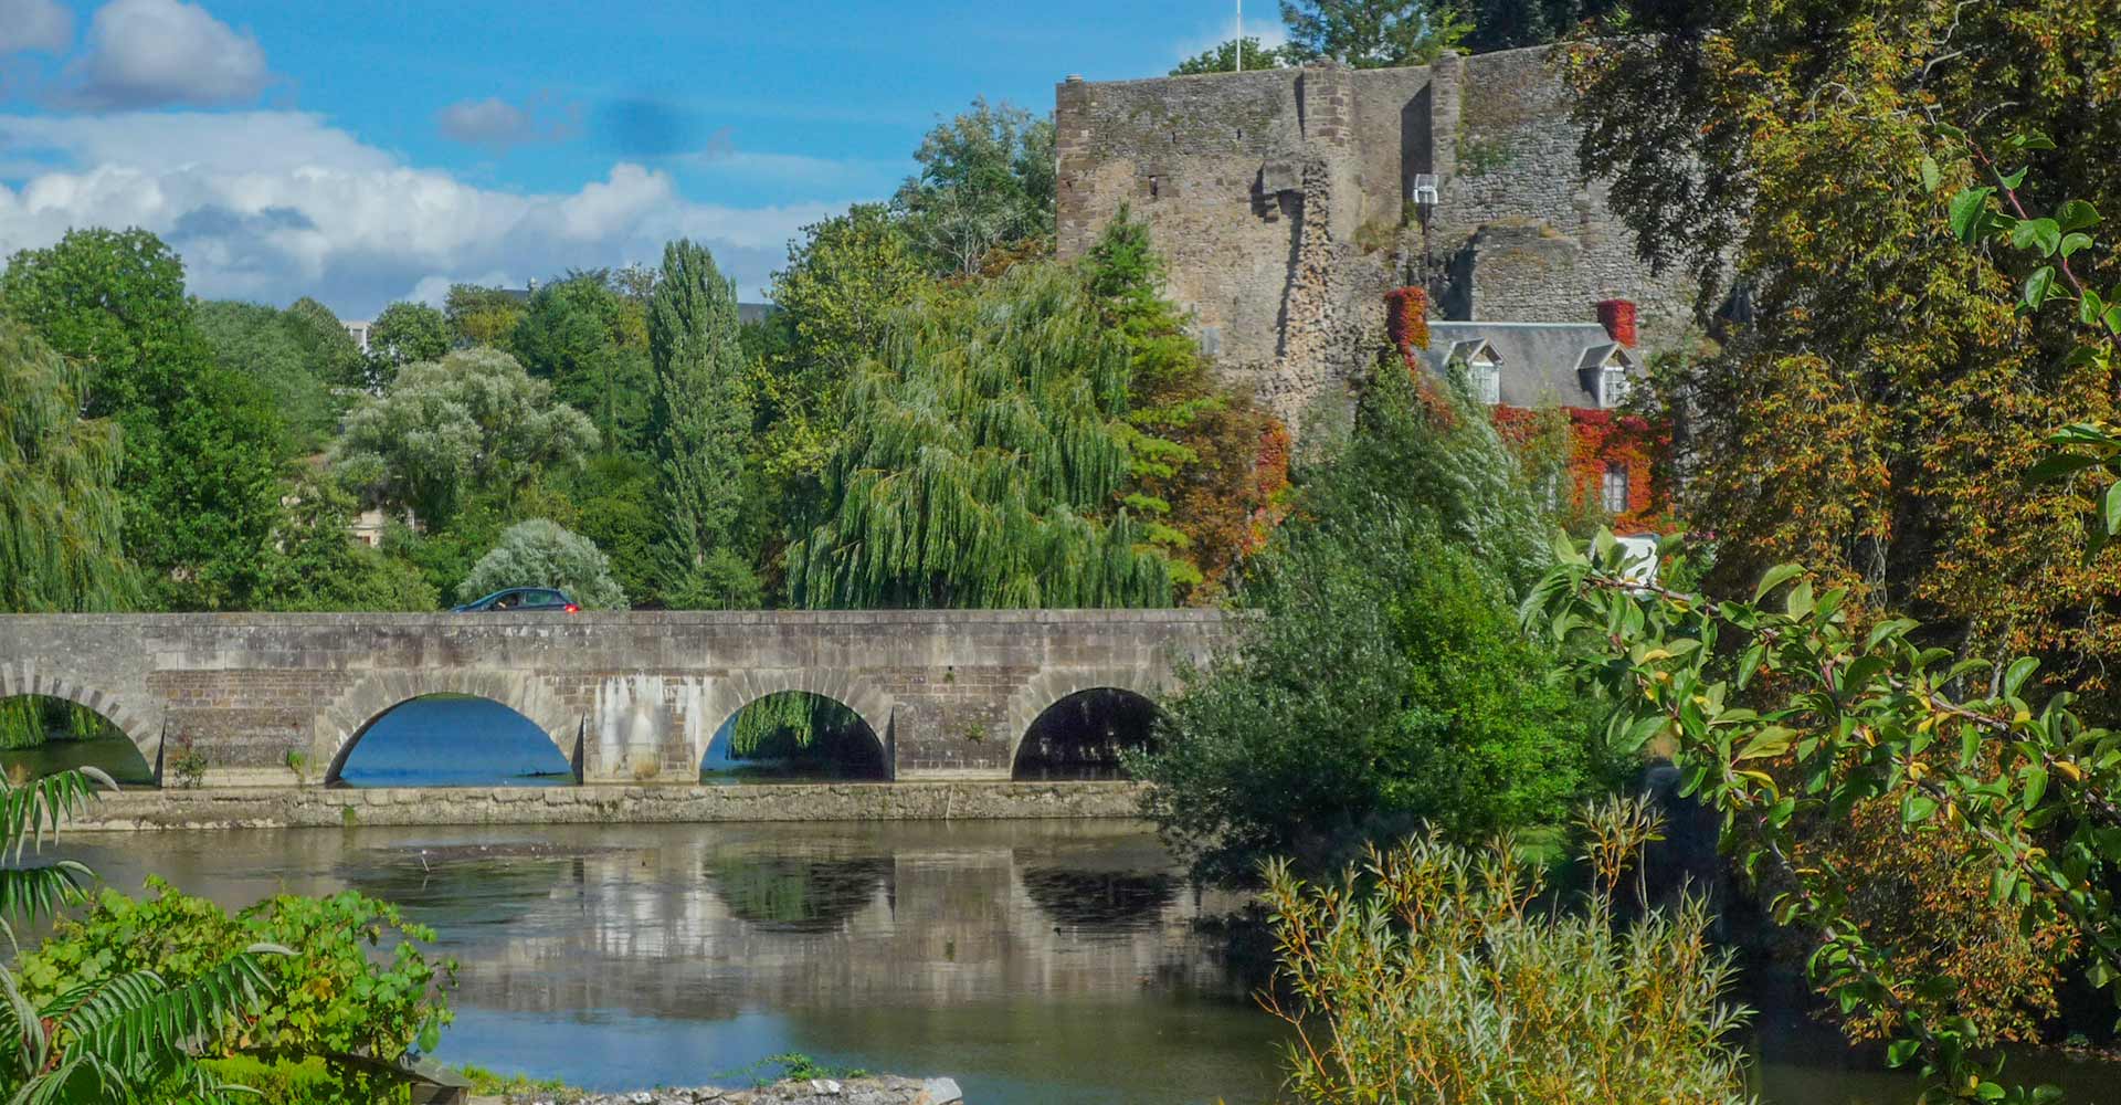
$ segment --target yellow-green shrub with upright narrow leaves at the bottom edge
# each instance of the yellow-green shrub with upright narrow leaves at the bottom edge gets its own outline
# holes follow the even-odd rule
[[[1324,884],[1273,863],[1279,990],[1262,1001],[1294,1029],[1287,1092],[1748,1103],[1746,1012],[1724,1001],[1737,971],[1710,944],[1710,912],[1616,912],[1659,819],[1640,800],[1606,802],[1582,825],[1593,880],[1574,912],[1550,906],[1548,872],[1508,836],[1466,848],[1432,829]]]

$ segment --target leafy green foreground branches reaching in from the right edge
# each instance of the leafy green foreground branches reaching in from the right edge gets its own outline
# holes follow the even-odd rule
[[[1939,134],[1964,142],[1951,127]],[[2102,297],[2068,267],[2091,246],[2083,231],[2098,212],[2070,201],[2032,218],[2017,195],[2023,172],[2002,172],[1981,151],[1970,157],[1994,185],[1951,201],[1953,231],[2051,259],[2028,278],[2019,312],[2074,301],[2089,335],[2070,363],[2108,369],[2121,291]],[[1936,187],[1928,159],[1922,178]],[[2089,526],[2096,556],[2121,532],[2121,431],[2072,424],[2049,443],[2057,452],[2032,479],[2096,473],[2108,484]],[[2121,967],[2121,736],[2081,715],[2066,689],[2043,698],[2036,657],[1962,660],[1928,643],[1917,621],[1860,609],[1847,587],[1820,590],[1796,564],[1767,571],[1750,600],[1714,600],[1629,577],[1603,532],[1587,549],[1559,551],[1561,564],[1525,602],[1527,624],[1574,645],[1580,672],[1618,704],[1608,721],[1618,751],[1671,742],[1684,791],[1722,812],[1726,850],[1780,889],[1775,920],[1816,935],[1813,984],[1843,1014],[1892,1027],[1888,1060],[1920,1058],[1926,1099],[2057,1099],[2047,1086],[1998,1082],[1994,1039],[1956,1005],[1951,980],[1907,969],[1873,937],[1850,908],[1847,874],[1801,848],[1803,827],[1843,823],[1860,802],[1894,802],[1907,831],[1970,844],[1989,899],[2015,908],[2023,931],[2074,931],[2087,980],[2106,988]],[[1688,556],[1682,539],[1663,541],[1665,575],[1688,577]]]

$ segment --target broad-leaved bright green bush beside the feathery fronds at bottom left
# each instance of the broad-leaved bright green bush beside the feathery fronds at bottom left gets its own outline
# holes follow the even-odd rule
[[[210,976],[242,948],[269,944],[293,954],[263,961],[278,995],[212,1035],[212,1054],[358,1054],[397,1060],[435,1046],[452,1020],[448,990],[456,963],[428,961],[433,929],[397,906],[344,891],[331,897],[276,895],[238,914],[148,878],[148,897],[102,891],[81,918],[59,920],[17,963],[32,1001],[104,986],[153,969],[185,984]],[[354,1075],[348,1075],[354,1077]]]

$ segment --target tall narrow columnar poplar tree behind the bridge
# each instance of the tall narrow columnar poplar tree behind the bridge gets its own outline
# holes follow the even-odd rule
[[[664,594],[681,607],[755,602],[757,579],[736,547],[751,445],[736,284],[723,280],[704,246],[664,246],[662,280],[649,301],[649,437],[668,511]]]

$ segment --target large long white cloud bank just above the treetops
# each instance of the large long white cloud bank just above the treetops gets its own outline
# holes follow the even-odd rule
[[[0,117],[0,146],[34,148],[40,165],[0,185],[0,257],[70,227],[138,225],[185,257],[197,295],[314,295],[348,318],[454,280],[653,263],[681,235],[757,297],[787,240],[846,206],[698,204],[628,161],[571,193],[481,189],[303,112]]]

